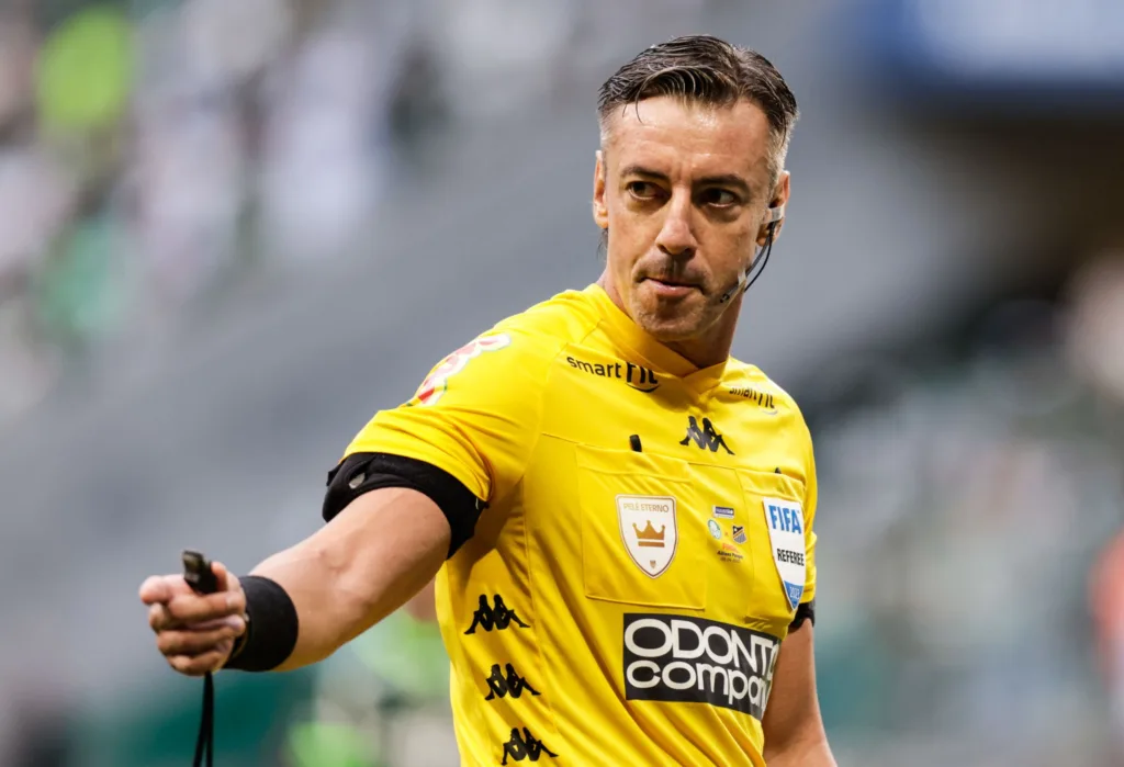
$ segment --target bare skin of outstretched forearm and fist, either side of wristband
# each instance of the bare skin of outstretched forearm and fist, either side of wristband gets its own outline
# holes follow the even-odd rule
[[[436,574],[448,546],[450,523],[436,503],[415,490],[383,487],[263,561],[253,574],[280,585],[297,613],[296,646],[277,668],[321,660],[397,610]],[[180,575],[151,577],[140,586],[157,647],[173,668],[191,676],[223,667],[233,640],[246,630],[242,585],[220,565],[216,572],[217,594],[196,594]]]

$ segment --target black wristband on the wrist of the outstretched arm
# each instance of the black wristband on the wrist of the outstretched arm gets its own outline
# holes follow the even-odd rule
[[[288,660],[297,647],[297,608],[275,581],[246,575],[241,582],[246,594],[246,632],[224,668],[268,672]]]

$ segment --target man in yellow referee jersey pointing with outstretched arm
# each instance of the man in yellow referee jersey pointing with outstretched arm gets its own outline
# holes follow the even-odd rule
[[[812,440],[791,399],[729,358],[796,118],[768,61],[713,37],[614,74],[600,280],[500,322],[378,413],[309,539],[241,582],[216,566],[215,595],[146,581],[172,667],[315,663],[436,574],[465,765],[834,765]]]

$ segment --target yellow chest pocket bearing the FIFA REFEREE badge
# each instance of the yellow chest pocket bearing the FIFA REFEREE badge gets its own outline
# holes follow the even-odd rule
[[[737,469],[746,505],[755,577],[751,619],[787,624],[807,578],[804,483],[782,474]]]

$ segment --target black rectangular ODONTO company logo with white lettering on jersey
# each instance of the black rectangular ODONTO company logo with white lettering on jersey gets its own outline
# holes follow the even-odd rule
[[[624,617],[625,697],[709,703],[760,720],[780,640],[686,615]]]

